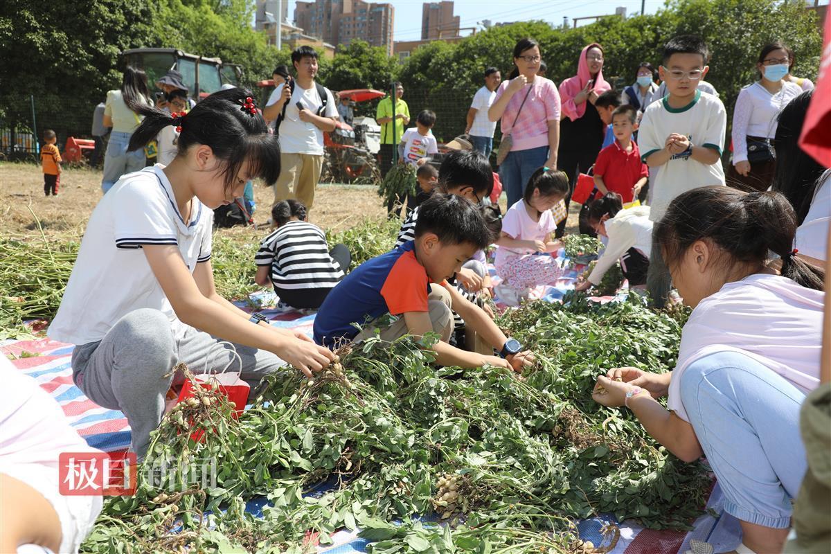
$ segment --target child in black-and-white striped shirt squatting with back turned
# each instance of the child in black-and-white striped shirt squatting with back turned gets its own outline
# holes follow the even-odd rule
[[[326,234],[306,221],[306,206],[298,200],[274,204],[271,218],[276,229],[260,243],[254,280],[270,282],[288,306],[317,310],[349,270],[352,256],[343,244],[329,249]]]

